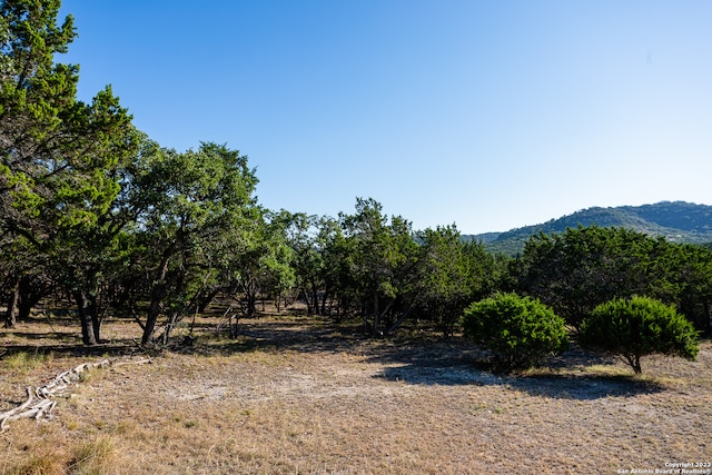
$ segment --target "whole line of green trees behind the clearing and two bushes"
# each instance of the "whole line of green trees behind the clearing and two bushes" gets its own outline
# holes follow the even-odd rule
[[[73,306],[86,345],[101,342],[105,316],[136,320],[144,345],[166,344],[181,318],[221,297],[230,321],[267,299],[278,310],[300,300],[309,314],[359,319],[370,336],[403,325],[448,336],[473,301],[516,291],[532,298],[523,325],[544,318],[527,307],[536,299],[577,328],[597,305],[641,295],[710,329],[709,247],[592,226],[540,234],[514,259],[455,226],[413,229],[372,198],[337,217],[265,209],[238,150],[164,148],[109,87],[78,100],[78,66],[55,61],[76,37],[71,17],[58,24],[59,9],[59,0],[0,0],[7,326],[51,299]],[[527,352],[503,358],[534,363]]]

